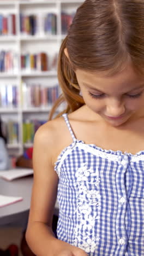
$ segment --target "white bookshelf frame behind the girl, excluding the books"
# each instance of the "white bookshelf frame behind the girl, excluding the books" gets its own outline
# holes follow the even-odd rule
[[[19,142],[8,144],[8,150],[11,155],[20,155],[25,148],[31,147],[32,143],[23,145],[23,120],[41,119],[47,120],[51,106],[47,107],[29,107],[22,106],[21,98],[21,80],[25,83],[41,83],[47,87],[56,84],[57,71],[23,71],[21,69],[21,54],[39,53],[45,51],[49,56],[51,63],[52,57],[58,53],[62,40],[65,35],[62,34],[61,13],[66,11],[68,14],[76,11],[84,0],[0,0],[1,14],[16,15],[16,35],[0,36],[0,51],[13,50],[18,55],[17,71],[15,73],[0,73],[1,84],[15,84],[18,90],[18,107],[5,108],[0,107],[0,115],[3,121],[14,120],[19,124]],[[23,15],[37,15],[38,31],[34,36],[21,34],[20,31],[20,13]],[[43,30],[43,17],[47,13],[55,13],[57,15],[57,33],[56,35],[46,34]],[[58,81],[57,81],[58,83]]]

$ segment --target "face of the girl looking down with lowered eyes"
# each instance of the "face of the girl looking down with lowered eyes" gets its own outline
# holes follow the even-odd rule
[[[131,66],[112,77],[77,69],[76,77],[86,105],[112,126],[144,117],[144,78]]]

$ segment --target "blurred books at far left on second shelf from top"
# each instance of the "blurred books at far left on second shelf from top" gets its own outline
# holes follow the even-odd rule
[[[14,51],[0,51],[0,72],[16,73],[18,71],[18,54]]]

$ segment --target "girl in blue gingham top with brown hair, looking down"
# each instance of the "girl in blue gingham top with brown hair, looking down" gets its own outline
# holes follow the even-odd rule
[[[68,107],[34,139],[37,255],[144,253],[143,31],[143,0],[86,0],[76,12],[58,61]]]

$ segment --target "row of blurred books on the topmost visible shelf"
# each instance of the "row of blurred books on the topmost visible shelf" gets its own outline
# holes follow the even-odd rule
[[[62,22],[62,34],[67,34],[68,28],[73,21],[75,13],[68,14],[66,12],[61,13]],[[40,19],[40,18],[39,18]],[[39,33],[39,30],[43,30],[45,34],[55,35],[57,34],[57,14],[48,13],[41,15],[41,21],[38,20],[36,14],[25,15],[20,14],[20,32],[21,34],[27,34],[34,36]],[[42,26],[40,26],[42,24]],[[16,15],[9,14],[4,16],[0,14],[0,35],[15,35],[16,34]]]

